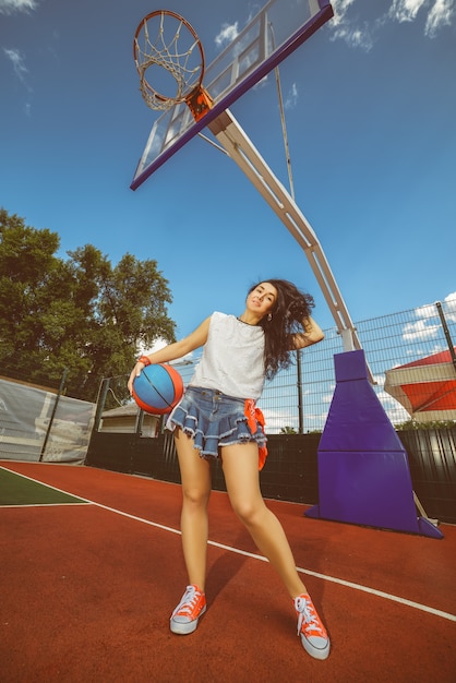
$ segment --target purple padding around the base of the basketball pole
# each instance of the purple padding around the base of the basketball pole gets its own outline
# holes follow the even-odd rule
[[[320,440],[319,504],[304,514],[443,538],[417,517],[405,451],[368,380],[362,350],[334,357],[336,388]]]

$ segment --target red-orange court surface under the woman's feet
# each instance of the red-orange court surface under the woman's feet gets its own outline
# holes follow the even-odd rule
[[[291,601],[211,499],[208,610],[176,636],[185,587],[179,486],[87,467],[0,466],[91,504],[0,508],[1,683],[456,682],[456,527],[443,540],[279,516],[332,652],[300,645]]]

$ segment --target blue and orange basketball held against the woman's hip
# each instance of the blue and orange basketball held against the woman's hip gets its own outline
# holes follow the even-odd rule
[[[182,398],[183,382],[171,366],[157,363],[143,368],[133,381],[133,398],[145,412],[170,412]]]

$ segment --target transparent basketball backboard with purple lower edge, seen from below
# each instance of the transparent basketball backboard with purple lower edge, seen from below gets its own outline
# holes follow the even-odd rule
[[[204,88],[213,107],[195,121],[187,104],[159,116],[152,128],[131,189],[136,190],[178,149],[264,79],[333,16],[329,0],[268,0],[206,68]],[[185,17],[190,19],[191,17]],[[197,26],[194,26],[197,32]],[[200,36],[204,44],[204,36]]]

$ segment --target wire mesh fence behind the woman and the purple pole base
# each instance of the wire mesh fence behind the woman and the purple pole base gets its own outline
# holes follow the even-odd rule
[[[445,426],[456,419],[456,298],[359,322],[356,327],[375,381],[373,388],[396,428]],[[290,368],[266,383],[259,405],[267,433],[323,431],[335,388],[334,356],[343,350],[341,336],[335,328],[326,329],[322,343],[297,352]],[[201,349],[173,363],[185,385],[200,358]],[[122,405],[118,397],[124,396],[127,379],[127,374],[110,379],[106,407]]]

